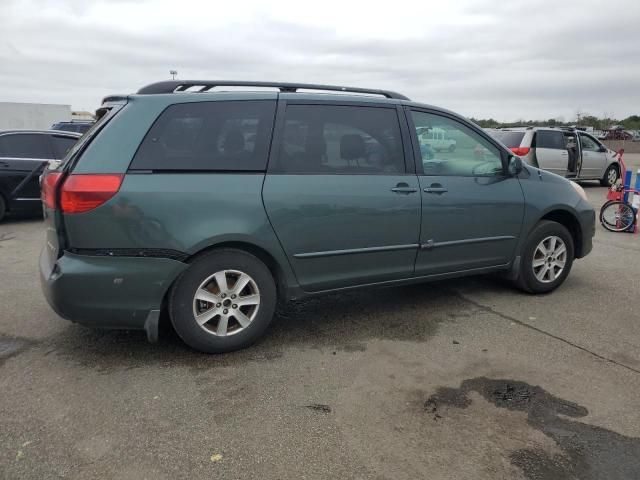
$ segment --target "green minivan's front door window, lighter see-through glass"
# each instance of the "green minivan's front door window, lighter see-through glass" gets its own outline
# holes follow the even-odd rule
[[[411,112],[425,175],[496,176],[500,150],[466,125],[431,113]]]

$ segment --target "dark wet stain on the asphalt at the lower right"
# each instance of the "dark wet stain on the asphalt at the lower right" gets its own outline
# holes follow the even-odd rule
[[[477,392],[498,408],[527,413],[527,423],[553,439],[562,454],[539,448],[509,454],[511,463],[529,480],[628,480],[640,478],[640,439],[571,418],[588,410],[556,397],[539,386],[484,377],[465,380],[460,388],[442,387],[424,404],[434,420],[443,418],[443,406],[467,408],[470,392]],[[569,418],[567,418],[569,417]]]

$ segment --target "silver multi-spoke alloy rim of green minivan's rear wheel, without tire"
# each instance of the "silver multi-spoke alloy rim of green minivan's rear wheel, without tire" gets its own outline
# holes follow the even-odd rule
[[[217,337],[245,330],[260,309],[260,290],[248,274],[221,270],[207,277],[193,296],[193,316],[200,328]]]

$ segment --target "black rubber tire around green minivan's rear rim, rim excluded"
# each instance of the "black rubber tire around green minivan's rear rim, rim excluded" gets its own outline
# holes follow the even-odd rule
[[[221,270],[239,270],[251,276],[260,291],[260,306],[251,324],[226,337],[207,333],[193,315],[193,296],[200,284]],[[224,353],[246,348],[268,328],[277,303],[277,291],[269,269],[255,256],[241,250],[218,250],[196,259],[171,290],[169,316],[174,329],[192,348],[206,353]]]

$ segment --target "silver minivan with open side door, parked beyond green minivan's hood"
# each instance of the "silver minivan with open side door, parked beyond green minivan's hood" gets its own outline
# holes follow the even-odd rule
[[[611,186],[620,177],[616,152],[573,128],[513,127],[489,132],[534,167],[575,180]]]

